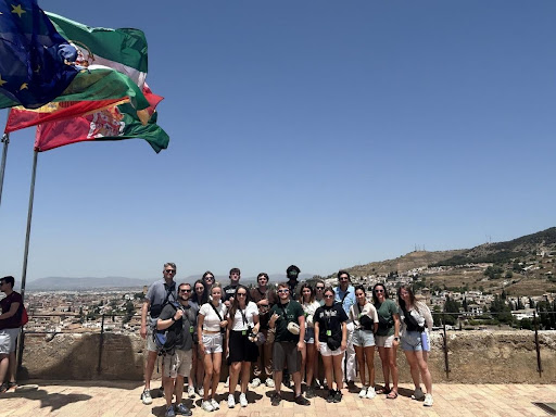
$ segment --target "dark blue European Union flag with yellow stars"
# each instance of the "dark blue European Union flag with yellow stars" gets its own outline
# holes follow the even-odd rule
[[[0,108],[36,109],[55,99],[78,73],[67,63],[76,53],[37,0],[0,0]]]

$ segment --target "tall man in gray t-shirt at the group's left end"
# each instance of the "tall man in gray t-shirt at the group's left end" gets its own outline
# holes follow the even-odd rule
[[[168,301],[176,301],[176,264],[167,262],[162,270],[164,279],[155,281],[149,287],[143,306],[141,308],[141,338],[147,339],[147,362],[144,364],[144,390],[141,394],[143,404],[152,404],[151,378],[156,362],[156,345],[152,338],[152,330],[162,307]]]

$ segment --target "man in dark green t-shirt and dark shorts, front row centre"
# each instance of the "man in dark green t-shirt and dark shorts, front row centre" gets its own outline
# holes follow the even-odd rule
[[[288,364],[288,371],[293,377],[295,403],[311,405],[311,402],[301,394],[301,351],[305,344],[303,307],[300,303],[290,299],[290,288],[287,282],[279,283],[277,292],[279,303],[270,308],[270,319],[268,321],[270,329],[276,329],[273,348],[276,393],[273,396],[271,404],[275,406],[280,404],[282,374],[285,365]]]

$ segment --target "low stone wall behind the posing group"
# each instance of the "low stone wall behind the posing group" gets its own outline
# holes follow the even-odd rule
[[[448,332],[450,374],[446,376],[442,333],[434,332],[429,356],[432,379],[458,383],[556,383],[556,331],[541,331],[539,340],[541,376],[532,331]],[[100,341],[99,333],[26,334],[21,378],[142,380],[144,342],[139,336],[104,333],[102,354]],[[409,382],[408,366],[401,350],[397,364],[401,381]],[[378,352],[375,369],[377,382],[382,381]],[[154,370],[157,377],[156,367]]]

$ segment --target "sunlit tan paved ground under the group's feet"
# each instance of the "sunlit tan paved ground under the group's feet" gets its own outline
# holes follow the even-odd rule
[[[10,416],[164,416],[164,399],[155,397],[151,405],[139,400],[142,387],[129,381],[31,381],[35,390],[17,390],[0,394],[0,417]],[[152,387],[160,387],[154,382]],[[410,386],[403,384],[396,400],[379,395],[361,400],[357,393],[345,392],[340,404],[328,404],[323,396],[312,400],[311,406],[293,403],[290,390],[285,389],[285,401],[277,407],[270,405],[271,390],[260,387],[250,390],[249,406],[229,409],[227,390],[219,386],[222,409],[206,413],[200,400],[187,400],[193,416],[212,417],[363,417],[363,416],[463,416],[463,417],[527,417],[549,416],[535,406],[535,402],[556,403],[556,384],[437,384],[433,387],[434,405],[424,407],[413,401]],[[237,396],[236,396],[236,400]]]

